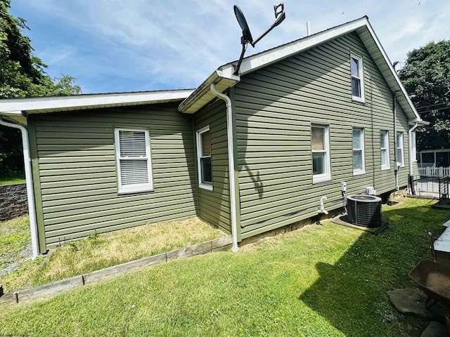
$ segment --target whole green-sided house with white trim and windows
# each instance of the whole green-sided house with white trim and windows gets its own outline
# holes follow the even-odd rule
[[[340,208],[342,183],[383,194],[416,174],[409,135],[424,122],[366,17],[235,65],[195,90],[1,102],[0,122],[30,136],[34,255],[195,215],[236,250],[317,216],[323,197]]]

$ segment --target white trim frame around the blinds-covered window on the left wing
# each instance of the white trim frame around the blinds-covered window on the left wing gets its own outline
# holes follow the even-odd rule
[[[146,157],[148,168],[148,183],[146,184],[132,184],[122,185],[122,174],[120,173],[120,161],[127,160],[120,157],[120,140],[119,131],[144,131],[146,138]],[[115,128],[115,156],[116,156],[116,168],[117,168],[117,185],[119,194],[134,193],[134,192],[150,192],[153,191],[153,174],[152,174],[152,160],[150,152],[150,133],[146,128]]]

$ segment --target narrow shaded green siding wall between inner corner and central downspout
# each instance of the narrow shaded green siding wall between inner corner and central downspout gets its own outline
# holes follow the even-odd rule
[[[195,113],[194,132],[208,125],[211,135],[213,190],[198,187],[198,215],[221,230],[231,232],[226,105],[222,100],[216,100]]]

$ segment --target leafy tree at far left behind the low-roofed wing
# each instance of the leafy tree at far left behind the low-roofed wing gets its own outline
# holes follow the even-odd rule
[[[32,54],[23,18],[8,13],[10,0],[0,0],[0,98],[78,95],[81,88],[68,75],[52,79],[46,65]],[[0,126],[0,176],[23,173],[20,131]]]

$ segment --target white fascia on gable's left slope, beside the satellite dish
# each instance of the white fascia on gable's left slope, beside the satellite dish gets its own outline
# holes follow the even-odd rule
[[[266,67],[267,65],[271,65],[279,60],[289,58],[290,56],[319,44],[336,39],[337,37],[353,32],[360,27],[364,27],[365,25],[368,25],[368,20],[366,17],[348,22],[335,28],[327,29],[326,31],[316,33],[309,37],[304,37],[303,39],[293,41],[290,44],[285,44],[284,46],[279,46],[269,51],[264,51],[256,55],[249,56],[248,58],[244,58],[242,64],[240,65],[240,76],[248,74],[249,72],[254,72],[259,68]],[[219,70],[222,70],[224,74],[233,74],[233,64],[234,62],[223,65],[219,67]]]

